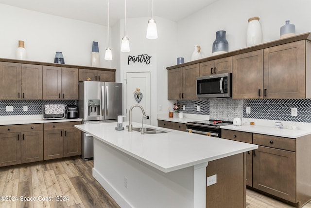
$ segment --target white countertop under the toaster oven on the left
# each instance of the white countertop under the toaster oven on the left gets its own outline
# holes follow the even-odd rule
[[[12,124],[35,124],[35,123],[54,123],[54,122],[69,122],[69,121],[82,121],[81,118],[73,119],[49,119],[44,120],[42,115],[5,115],[0,116],[0,125]]]

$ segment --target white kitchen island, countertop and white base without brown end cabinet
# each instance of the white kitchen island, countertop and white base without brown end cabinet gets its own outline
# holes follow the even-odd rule
[[[153,126],[166,132],[140,134],[116,126],[75,127],[94,137],[93,176],[122,208],[205,208],[208,162],[258,148]]]

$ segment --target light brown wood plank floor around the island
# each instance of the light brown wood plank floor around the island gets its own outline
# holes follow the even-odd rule
[[[93,165],[93,160],[70,158],[0,168],[0,196],[17,196],[0,200],[0,208],[120,208],[93,178]],[[292,208],[249,189],[246,193],[246,208]],[[311,202],[303,208],[311,208]]]

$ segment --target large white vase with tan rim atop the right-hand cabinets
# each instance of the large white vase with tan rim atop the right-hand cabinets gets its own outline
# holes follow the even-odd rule
[[[258,45],[262,42],[262,31],[259,23],[259,17],[248,19],[246,30],[246,46]]]

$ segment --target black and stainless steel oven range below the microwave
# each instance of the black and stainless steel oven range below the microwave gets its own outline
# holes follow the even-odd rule
[[[221,126],[232,125],[232,121],[207,120],[186,123],[187,132],[221,138]]]

